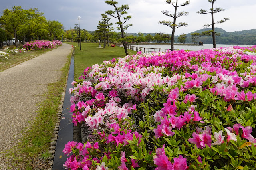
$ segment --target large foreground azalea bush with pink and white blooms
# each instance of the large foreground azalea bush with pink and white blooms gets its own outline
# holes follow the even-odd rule
[[[256,46],[141,53],[72,82],[64,166],[77,170],[256,169]]]

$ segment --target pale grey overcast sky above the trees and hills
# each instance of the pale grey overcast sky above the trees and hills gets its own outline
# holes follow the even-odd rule
[[[63,24],[65,30],[74,28],[78,24],[77,16],[81,16],[80,28],[96,30],[97,23],[101,20],[101,14],[107,10],[114,10],[113,6],[107,5],[105,0],[1,0],[0,11],[12,6],[22,6],[23,9],[38,8],[44,13],[47,20],[57,20]],[[173,6],[166,4],[165,0],[117,0],[118,5],[129,4],[128,14],[132,18],[127,24],[133,24],[126,32],[128,33],[149,33],[165,32],[170,34],[171,28],[158,24],[159,20],[171,20],[161,11],[170,10],[174,12]],[[179,4],[185,0],[179,0]],[[214,8],[224,8],[224,12],[214,14],[214,21],[230,18],[215,27],[222,28],[227,32],[250,30],[256,28],[256,0],[216,0]],[[208,0],[190,0],[189,6],[178,8],[178,12],[187,11],[188,16],[177,18],[177,22],[187,22],[188,27],[181,27],[175,30],[175,35],[187,34],[204,28],[204,24],[211,23],[210,14],[197,14],[200,9],[209,10],[211,3]],[[111,16],[109,16],[112,18]],[[116,18],[111,19],[116,28]],[[117,29],[115,29],[117,31]]]

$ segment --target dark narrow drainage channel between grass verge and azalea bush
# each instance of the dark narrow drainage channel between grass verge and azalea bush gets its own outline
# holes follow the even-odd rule
[[[66,93],[62,108],[62,119],[60,120],[60,127],[58,131],[58,138],[56,142],[56,149],[54,155],[54,161],[52,165],[52,170],[64,170],[63,164],[67,160],[68,156],[64,155],[62,152],[65,144],[73,140],[73,123],[71,122],[72,113],[69,112],[70,97],[69,88],[72,87],[71,83],[74,80],[74,49],[71,56],[71,62],[69,66],[69,76],[67,80]],[[65,118],[65,119],[64,119]]]

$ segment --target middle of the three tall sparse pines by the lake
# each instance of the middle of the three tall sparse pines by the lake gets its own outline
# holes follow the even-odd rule
[[[163,14],[173,18],[173,21],[159,21],[158,23],[159,24],[163,24],[163,25],[166,25],[166,26],[169,26],[171,29],[172,29],[172,33],[171,33],[171,50],[174,49],[174,34],[175,34],[175,29],[176,28],[179,28],[181,26],[188,26],[187,23],[185,22],[179,22],[179,24],[176,24],[176,20],[177,18],[181,17],[181,16],[187,16],[188,15],[188,12],[177,12],[177,8],[178,7],[181,7],[181,6],[187,6],[190,4],[190,1],[186,1],[180,5],[178,5],[178,0],[166,0],[165,1],[167,4],[171,4],[173,7],[174,7],[174,14],[171,14],[169,10],[165,10],[165,11],[162,11]],[[158,33],[159,35],[163,35],[164,33]]]

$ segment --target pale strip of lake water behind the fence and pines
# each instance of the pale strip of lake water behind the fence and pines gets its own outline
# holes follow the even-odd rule
[[[165,49],[171,49],[171,45],[131,45],[135,47],[141,47],[142,52],[148,52],[154,51],[153,48],[155,48],[155,51],[159,51],[159,48],[161,48],[161,51],[165,51]],[[233,47],[233,46],[240,46],[240,47],[248,47],[253,45],[225,45],[225,44],[216,44],[216,47]],[[148,49],[149,48],[149,49]],[[174,45],[174,49],[184,49],[184,50],[191,50],[191,51],[198,51],[202,49],[210,49],[213,48],[212,44],[204,44],[204,45]],[[144,51],[145,50],[145,51]]]

